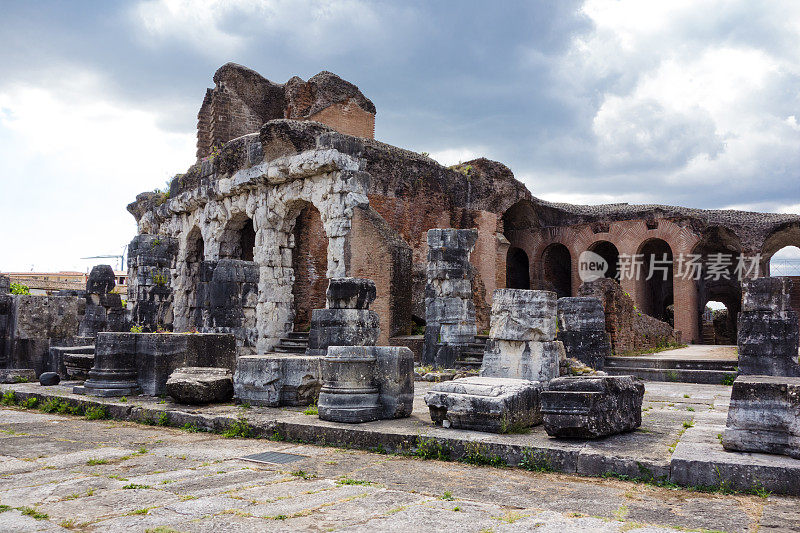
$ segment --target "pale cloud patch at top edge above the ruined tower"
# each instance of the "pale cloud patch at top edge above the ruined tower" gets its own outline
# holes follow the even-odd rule
[[[145,42],[177,40],[210,57],[278,34],[295,49],[332,54],[380,38],[383,23],[360,0],[145,0],[133,10]]]

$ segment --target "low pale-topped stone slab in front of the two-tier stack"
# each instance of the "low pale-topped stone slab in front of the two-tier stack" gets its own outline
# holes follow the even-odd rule
[[[431,420],[450,427],[504,433],[542,420],[542,385],[522,379],[471,377],[437,383],[425,403]]]

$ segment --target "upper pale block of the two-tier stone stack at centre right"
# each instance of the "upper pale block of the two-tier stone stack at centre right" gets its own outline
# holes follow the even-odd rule
[[[556,338],[556,293],[498,289],[492,296],[489,337],[511,341]]]

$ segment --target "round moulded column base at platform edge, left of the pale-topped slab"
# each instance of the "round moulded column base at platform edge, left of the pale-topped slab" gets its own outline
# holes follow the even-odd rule
[[[369,347],[328,348],[328,354],[322,358],[320,419],[360,423],[381,418],[380,393],[375,382],[376,361]]]

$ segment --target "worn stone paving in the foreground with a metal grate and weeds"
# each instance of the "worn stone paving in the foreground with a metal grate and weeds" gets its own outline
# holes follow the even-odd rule
[[[303,457],[285,465],[238,459],[265,451]],[[793,497],[704,494],[13,408],[0,410],[0,505],[8,506],[0,507],[4,532],[800,531]]]

